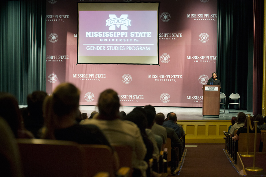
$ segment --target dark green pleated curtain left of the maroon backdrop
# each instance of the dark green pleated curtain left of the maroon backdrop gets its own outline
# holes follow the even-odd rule
[[[46,90],[45,0],[0,1],[0,91],[27,104]]]

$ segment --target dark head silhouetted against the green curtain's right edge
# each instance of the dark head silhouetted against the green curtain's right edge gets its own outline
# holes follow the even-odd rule
[[[27,103],[29,116],[42,117],[42,104],[46,96],[47,93],[44,91],[34,91],[32,94],[28,94]]]

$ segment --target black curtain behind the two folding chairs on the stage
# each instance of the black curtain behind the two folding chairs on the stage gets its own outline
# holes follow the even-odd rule
[[[253,0],[218,0],[216,71],[226,106],[236,92],[240,109],[252,112]]]

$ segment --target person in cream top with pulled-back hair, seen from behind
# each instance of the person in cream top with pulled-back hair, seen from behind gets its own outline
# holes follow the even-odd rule
[[[147,153],[141,133],[136,124],[121,120],[119,116],[120,101],[112,89],[103,91],[98,99],[99,115],[83,124],[97,125],[111,144],[131,147],[134,176],[146,176],[148,164],[144,161]]]

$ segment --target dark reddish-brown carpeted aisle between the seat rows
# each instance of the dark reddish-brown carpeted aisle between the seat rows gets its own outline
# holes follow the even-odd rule
[[[224,154],[224,143],[187,144],[187,153],[179,176],[239,177]]]

